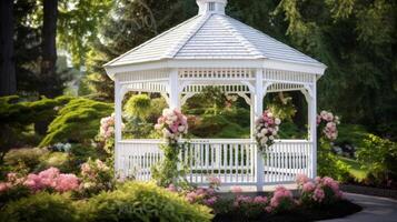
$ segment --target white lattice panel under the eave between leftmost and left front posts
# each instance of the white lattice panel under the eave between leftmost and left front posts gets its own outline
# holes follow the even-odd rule
[[[148,80],[163,80],[168,79],[169,71],[166,69],[161,70],[146,70],[136,72],[123,72],[116,75],[120,82],[138,82]]]

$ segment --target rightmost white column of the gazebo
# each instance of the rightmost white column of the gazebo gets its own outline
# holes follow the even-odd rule
[[[317,176],[317,81],[314,80],[311,87],[310,102],[310,141],[312,142],[311,150],[311,176]]]

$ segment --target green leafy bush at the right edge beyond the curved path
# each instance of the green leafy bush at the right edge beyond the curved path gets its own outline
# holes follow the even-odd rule
[[[358,150],[357,159],[375,176],[376,183],[397,179],[397,143],[370,134]]]

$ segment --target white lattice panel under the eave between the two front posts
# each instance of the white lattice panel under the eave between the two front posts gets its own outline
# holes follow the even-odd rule
[[[249,80],[255,78],[251,69],[181,69],[181,80]]]

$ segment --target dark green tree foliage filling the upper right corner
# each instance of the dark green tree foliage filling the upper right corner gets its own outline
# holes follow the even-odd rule
[[[381,129],[396,125],[396,7],[386,0],[281,0],[275,11],[287,21],[288,43],[328,65],[319,107],[394,139],[395,130]]]

